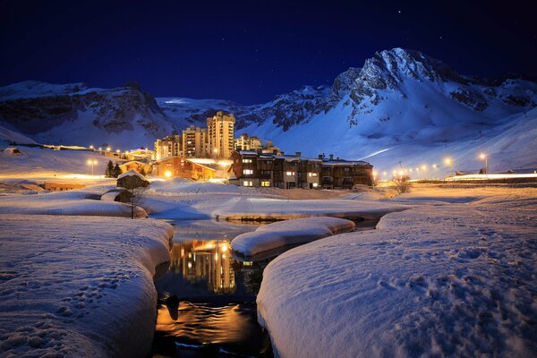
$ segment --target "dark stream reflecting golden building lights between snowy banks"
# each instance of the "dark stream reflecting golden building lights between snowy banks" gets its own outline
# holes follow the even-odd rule
[[[257,226],[178,221],[169,265],[158,268],[153,357],[272,357],[257,322],[256,294],[268,260],[234,258],[230,240]]]

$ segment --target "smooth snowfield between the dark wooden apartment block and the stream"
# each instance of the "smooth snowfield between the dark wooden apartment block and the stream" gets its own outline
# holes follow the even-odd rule
[[[326,216],[378,219],[408,208],[384,200],[273,199],[274,192],[260,188],[180,180],[153,182],[142,196],[141,206],[151,217],[179,220],[216,217],[230,221],[276,221]]]

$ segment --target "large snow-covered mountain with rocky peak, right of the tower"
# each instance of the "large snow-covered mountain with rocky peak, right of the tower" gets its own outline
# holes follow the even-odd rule
[[[535,116],[528,113],[537,104],[532,81],[477,80],[421,53],[396,48],[376,54],[362,69],[342,73],[325,100],[316,100],[320,105],[302,123],[286,127],[273,115],[243,132],[306,156],[324,152],[367,158],[379,172],[399,168],[399,161],[406,168],[440,165],[446,156],[456,158],[457,169],[477,170],[480,150],[490,155],[492,170],[537,166],[531,153],[513,156],[516,150],[506,153],[492,146],[503,136],[502,141],[514,142],[521,137],[519,149],[532,147],[537,129],[524,124]],[[506,127],[510,131],[503,133]],[[378,152],[383,155],[374,155]]]

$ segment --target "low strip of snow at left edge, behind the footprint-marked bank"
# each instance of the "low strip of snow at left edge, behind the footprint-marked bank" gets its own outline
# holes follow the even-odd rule
[[[98,198],[102,193],[91,190],[73,190],[0,196],[0,214],[131,217],[131,207],[128,204],[88,199],[92,196]],[[136,208],[135,215],[136,217],[148,216],[140,207]]]

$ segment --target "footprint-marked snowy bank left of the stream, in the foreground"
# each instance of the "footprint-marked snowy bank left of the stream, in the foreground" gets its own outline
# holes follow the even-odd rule
[[[0,355],[143,357],[172,234],[149,219],[0,215]]]

